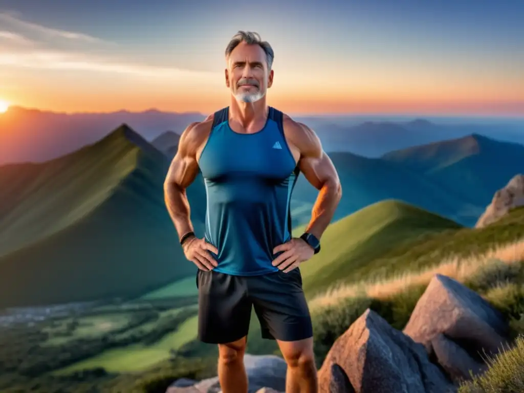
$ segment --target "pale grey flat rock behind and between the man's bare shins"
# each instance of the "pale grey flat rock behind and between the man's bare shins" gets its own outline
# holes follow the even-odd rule
[[[273,390],[286,390],[287,364],[276,355],[244,355],[244,366],[248,378],[248,393],[256,393],[266,388],[267,392]],[[219,393],[221,391],[219,377],[206,378],[187,386],[184,381],[180,386],[178,381],[167,389],[166,393]]]

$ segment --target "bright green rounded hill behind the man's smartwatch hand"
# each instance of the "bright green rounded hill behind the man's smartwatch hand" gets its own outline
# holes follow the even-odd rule
[[[336,282],[357,282],[380,277],[405,266],[388,266],[377,258],[409,244],[422,235],[456,230],[461,226],[444,217],[397,200],[367,206],[332,223],[322,236],[322,250],[301,265],[303,288],[308,297]],[[303,227],[293,230],[299,236]]]

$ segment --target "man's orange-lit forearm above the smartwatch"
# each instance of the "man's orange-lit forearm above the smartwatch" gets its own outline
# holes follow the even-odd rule
[[[328,227],[335,214],[336,207],[339,205],[342,197],[342,188],[339,181],[329,180],[324,183],[316,198],[311,212],[311,221],[305,229],[321,238],[322,234]]]

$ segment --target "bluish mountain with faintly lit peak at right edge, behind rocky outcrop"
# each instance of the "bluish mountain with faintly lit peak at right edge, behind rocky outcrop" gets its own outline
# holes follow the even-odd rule
[[[524,146],[478,134],[392,151],[383,159],[483,207],[515,174],[524,172]]]

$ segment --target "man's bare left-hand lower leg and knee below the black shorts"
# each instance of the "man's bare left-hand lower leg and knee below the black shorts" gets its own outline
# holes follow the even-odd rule
[[[247,393],[244,353],[247,337],[219,344],[219,380],[223,393]]]

